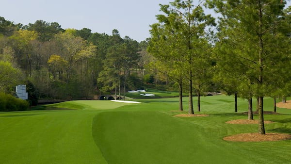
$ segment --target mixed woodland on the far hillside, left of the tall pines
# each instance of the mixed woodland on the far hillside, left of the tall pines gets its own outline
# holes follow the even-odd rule
[[[149,77],[146,47],[146,41],[121,38],[115,29],[108,35],[43,20],[23,26],[0,17],[0,91],[13,94],[17,84],[29,81],[38,98],[124,95]]]

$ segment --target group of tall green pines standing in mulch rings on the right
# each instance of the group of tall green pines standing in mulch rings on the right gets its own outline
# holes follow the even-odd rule
[[[189,113],[210,81],[229,95],[257,98],[259,133],[265,134],[263,98],[290,96],[291,6],[283,0],[175,0],[151,25],[148,51],[162,71],[187,85]],[[204,8],[219,14],[217,21]],[[213,28],[216,26],[216,28]],[[214,29],[214,30],[213,30]],[[186,83],[188,82],[188,84]],[[180,110],[182,107],[180,96]],[[237,109],[236,109],[237,110]],[[275,110],[275,108],[274,108]],[[236,111],[237,112],[237,111]]]

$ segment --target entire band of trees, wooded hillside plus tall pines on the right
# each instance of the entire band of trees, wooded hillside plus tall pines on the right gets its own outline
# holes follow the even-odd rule
[[[252,98],[262,112],[263,97],[291,95],[291,6],[285,4],[175,0],[160,5],[151,37],[140,43],[116,29],[109,35],[0,17],[0,92],[13,95],[26,84],[34,99],[92,99],[159,87],[179,91],[180,110],[182,93],[189,93],[194,114],[194,94],[200,111],[200,95],[219,91],[247,99],[252,119]]]

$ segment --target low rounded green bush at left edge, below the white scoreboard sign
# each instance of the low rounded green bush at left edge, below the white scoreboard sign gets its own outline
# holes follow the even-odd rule
[[[26,111],[29,103],[23,99],[13,97],[12,95],[0,93],[0,111]]]

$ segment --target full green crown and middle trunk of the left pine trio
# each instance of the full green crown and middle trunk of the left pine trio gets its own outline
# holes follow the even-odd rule
[[[175,0],[160,6],[164,15],[157,15],[159,23],[151,25],[148,51],[157,58],[160,72],[180,85],[183,79],[188,81],[189,111],[194,114],[193,88],[202,92],[202,85],[211,80],[208,39],[215,19],[205,15],[203,7],[195,6],[192,0]]]

